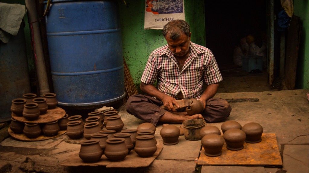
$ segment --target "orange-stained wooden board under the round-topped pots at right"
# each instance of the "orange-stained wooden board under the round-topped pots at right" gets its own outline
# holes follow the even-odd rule
[[[279,152],[276,135],[263,133],[260,143],[244,143],[243,149],[231,151],[222,148],[222,155],[209,157],[205,155],[202,147],[198,165],[241,165],[241,166],[281,166],[282,160]]]

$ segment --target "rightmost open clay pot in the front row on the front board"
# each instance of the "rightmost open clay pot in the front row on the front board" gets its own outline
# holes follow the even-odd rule
[[[142,135],[136,137],[134,151],[140,157],[151,157],[157,151],[153,135]]]

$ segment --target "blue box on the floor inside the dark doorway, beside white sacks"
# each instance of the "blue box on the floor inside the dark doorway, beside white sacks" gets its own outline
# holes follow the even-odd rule
[[[241,57],[242,70],[251,72],[251,70],[263,70],[263,57],[258,55],[249,55]]]

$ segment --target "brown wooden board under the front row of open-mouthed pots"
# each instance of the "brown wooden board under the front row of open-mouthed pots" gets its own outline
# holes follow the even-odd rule
[[[105,155],[102,155],[99,162],[96,163],[85,163],[81,158],[77,155],[72,155],[69,159],[61,162],[60,165],[63,166],[106,166],[106,167],[148,167],[154,160],[157,158],[159,153],[161,152],[163,146],[157,145],[157,151],[152,157],[139,157],[138,154],[131,150],[130,153],[125,157],[123,161],[112,162],[107,159]]]

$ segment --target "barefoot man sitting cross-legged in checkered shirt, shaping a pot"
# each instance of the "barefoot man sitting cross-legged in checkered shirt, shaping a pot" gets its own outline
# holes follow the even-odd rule
[[[184,20],[168,22],[163,36],[167,45],[150,54],[142,74],[140,88],[146,95],[130,96],[127,112],[154,125],[182,123],[188,119],[205,119],[208,123],[225,120],[231,107],[226,100],[213,98],[222,80],[213,53],[190,41],[190,26]],[[203,82],[207,85],[205,90]],[[188,115],[186,111],[176,110],[180,107],[176,100],[191,98],[200,100],[204,111]]]

